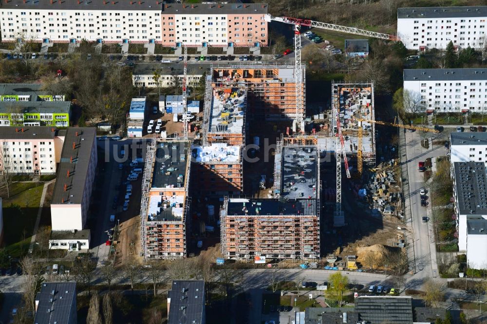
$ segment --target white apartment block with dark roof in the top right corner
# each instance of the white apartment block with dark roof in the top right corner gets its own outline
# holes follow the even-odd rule
[[[487,6],[398,8],[397,36],[410,50],[480,48],[486,36]]]

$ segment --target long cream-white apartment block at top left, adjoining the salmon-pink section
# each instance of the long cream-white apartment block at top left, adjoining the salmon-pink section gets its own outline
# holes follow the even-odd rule
[[[160,42],[162,1],[5,0],[2,39],[42,42]]]

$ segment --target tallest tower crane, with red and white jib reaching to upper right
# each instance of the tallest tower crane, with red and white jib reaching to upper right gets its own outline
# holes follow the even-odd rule
[[[265,21],[279,21],[286,24],[294,25],[294,53],[295,53],[295,76],[296,76],[296,122],[297,126],[301,132],[304,131],[304,117],[305,117],[305,107],[304,107],[304,96],[303,96],[303,85],[302,85],[302,62],[301,62],[301,26],[316,27],[320,29],[332,30],[342,33],[355,34],[367,37],[374,37],[387,40],[400,40],[399,37],[371,32],[363,29],[358,29],[354,27],[346,27],[340,25],[329,24],[325,22],[319,22],[309,19],[299,19],[290,17],[274,17],[271,15],[265,15]],[[348,170],[348,169],[347,169]]]

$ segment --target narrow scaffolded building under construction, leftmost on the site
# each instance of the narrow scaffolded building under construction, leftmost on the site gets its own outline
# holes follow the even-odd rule
[[[140,206],[144,258],[187,256],[189,142],[152,140],[147,148]]]

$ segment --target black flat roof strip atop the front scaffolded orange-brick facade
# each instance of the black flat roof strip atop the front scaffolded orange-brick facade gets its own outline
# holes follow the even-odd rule
[[[227,216],[313,216],[316,199],[230,198]]]

